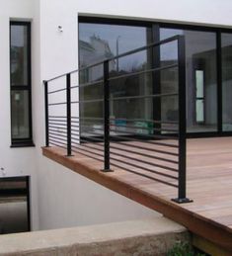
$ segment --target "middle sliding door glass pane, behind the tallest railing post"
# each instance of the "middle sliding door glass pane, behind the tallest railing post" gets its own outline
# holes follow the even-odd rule
[[[189,132],[213,131],[217,129],[217,97],[216,97],[216,35],[210,32],[161,29],[161,40],[176,35],[184,35],[186,39],[186,76],[187,76],[187,128]],[[177,47],[164,45],[161,47],[161,61],[174,63],[177,61]],[[197,97],[196,70],[202,70],[203,99]],[[166,80],[164,82],[164,79]],[[164,87],[176,86],[176,80],[161,78]],[[198,88],[199,89],[199,88]],[[167,103],[168,104],[168,103]],[[173,104],[173,103],[172,103]],[[173,107],[174,111],[176,107]],[[171,107],[169,108],[171,109]],[[165,115],[164,113],[162,115]],[[167,114],[166,114],[167,115]],[[200,122],[199,122],[200,121]]]

